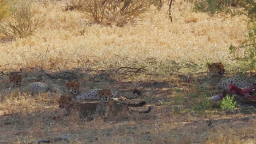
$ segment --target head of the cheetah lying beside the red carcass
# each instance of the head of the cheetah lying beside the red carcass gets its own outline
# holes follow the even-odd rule
[[[208,64],[209,74],[210,75],[223,75],[225,72],[224,65],[222,63],[213,63]]]

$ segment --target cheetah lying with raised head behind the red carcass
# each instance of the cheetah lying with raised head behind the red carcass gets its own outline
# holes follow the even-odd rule
[[[252,86],[256,83],[256,77],[223,77],[224,65],[222,63],[207,64],[209,69],[209,79],[207,82],[203,83],[203,86],[211,86],[227,91],[229,89],[229,84],[233,84],[237,87],[245,88]]]

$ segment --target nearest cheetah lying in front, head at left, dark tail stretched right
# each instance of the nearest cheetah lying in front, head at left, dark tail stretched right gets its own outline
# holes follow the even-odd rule
[[[103,98],[103,97],[102,97]],[[110,99],[107,98],[107,99]],[[72,100],[71,96],[61,96],[59,99],[59,107],[65,108],[68,114],[78,112],[81,118],[95,117],[96,115],[106,116],[109,114],[116,115],[123,110],[129,110],[128,106],[143,106],[146,101],[139,101],[138,103],[116,103],[114,100],[101,99],[100,101],[80,101]],[[138,111],[138,113],[149,113],[153,109],[149,106],[147,111]]]

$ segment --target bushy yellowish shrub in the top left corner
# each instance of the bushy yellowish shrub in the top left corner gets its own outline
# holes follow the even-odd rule
[[[34,13],[32,0],[8,1],[9,16],[0,23],[2,37],[24,38],[43,26],[46,14]]]

